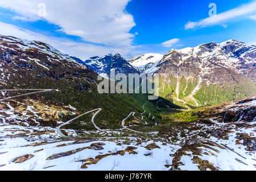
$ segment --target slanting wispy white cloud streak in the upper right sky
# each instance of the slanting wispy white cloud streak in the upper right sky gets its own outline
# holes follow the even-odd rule
[[[223,24],[229,22],[230,20],[234,20],[241,17],[243,18],[244,16],[250,15],[254,12],[256,12],[256,1],[248,3],[246,5],[242,5],[232,10],[225,11],[221,14],[201,19],[197,22],[189,21],[187,24],[185,24],[185,30]]]

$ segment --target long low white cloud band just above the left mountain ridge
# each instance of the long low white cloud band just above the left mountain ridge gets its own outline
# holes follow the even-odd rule
[[[44,42],[51,45],[52,47],[55,47],[63,53],[67,53],[70,56],[77,56],[82,60],[86,60],[90,56],[103,56],[108,53],[120,53],[127,59],[132,59],[135,56],[141,54],[141,52],[134,50],[137,47],[123,49],[110,46],[95,46],[89,43],[77,43],[69,39],[45,36],[2,22],[0,22],[0,27],[0,34],[2,35],[15,36],[16,38],[20,39]]]

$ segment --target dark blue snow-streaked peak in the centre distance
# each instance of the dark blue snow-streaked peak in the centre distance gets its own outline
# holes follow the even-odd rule
[[[140,73],[137,68],[133,67],[126,59],[118,53],[115,55],[108,54],[102,57],[94,56],[84,61],[84,63],[100,75],[110,75],[110,71],[115,69],[115,74]]]

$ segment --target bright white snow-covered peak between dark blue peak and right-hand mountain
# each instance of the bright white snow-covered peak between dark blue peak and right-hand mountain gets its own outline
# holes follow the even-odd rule
[[[138,68],[140,72],[152,72],[160,60],[162,60],[163,55],[159,53],[146,53],[144,55],[135,57],[130,60],[129,63],[134,67]]]

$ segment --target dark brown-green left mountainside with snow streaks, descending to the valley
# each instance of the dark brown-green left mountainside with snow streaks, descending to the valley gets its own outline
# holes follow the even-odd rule
[[[115,57],[120,58],[119,55]],[[0,36],[0,90],[4,90],[0,92],[1,97],[34,92],[6,89],[52,89],[52,92],[35,93],[17,99],[22,102],[27,98],[33,103],[47,103],[57,108],[72,105],[79,113],[101,107],[102,117],[104,114],[111,115],[106,118],[107,123],[112,122],[111,126],[119,126],[119,120],[131,111],[143,111],[142,105],[147,96],[139,96],[141,100],[138,100],[129,94],[98,93],[98,73],[73,58],[42,42]],[[137,69],[134,68],[134,71]],[[44,114],[48,115],[47,112]],[[47,121],[56,122],[56,118],[50,117]],[[107,123],[105,127],[109,127]]]

